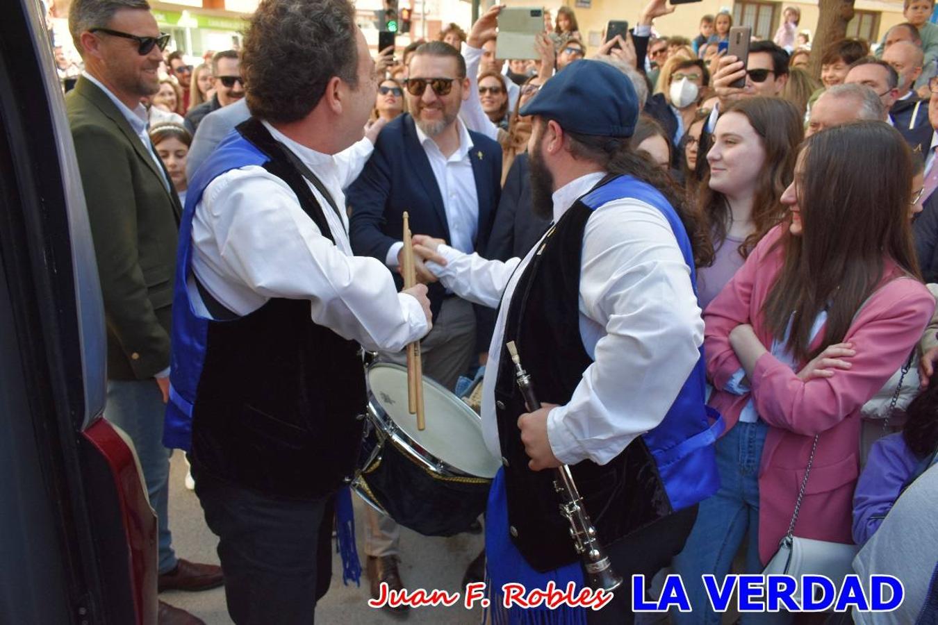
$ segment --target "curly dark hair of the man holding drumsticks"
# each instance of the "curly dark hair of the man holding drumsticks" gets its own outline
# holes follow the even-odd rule
[[[355,89],[355,8],[348,0],[263,0],[241,52],[250,112],[271,122],[306,117],[338,76]]]

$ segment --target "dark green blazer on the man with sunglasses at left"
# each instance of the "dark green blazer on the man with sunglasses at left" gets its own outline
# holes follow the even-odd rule
[[[152,378],[170,365],[182,207],[162,163],[98,85],[82,77],[65,99],[104,297],[108,379]]]

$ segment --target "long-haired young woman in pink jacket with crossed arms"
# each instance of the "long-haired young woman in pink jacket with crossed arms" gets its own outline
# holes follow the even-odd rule
[[[706,308],[709,404],[728,431],[717,443],[720,490],[674,561],[694,607],[678,622],[719,623],[701,574],[728,573],[747,531],[746,573],[762,572],[815,435],[794,534],[852,543],[860,407],[908,359],[935,307],[915,260],[911,180],[909,149],[885,123],[812,136],[782,196],[789,219]]]

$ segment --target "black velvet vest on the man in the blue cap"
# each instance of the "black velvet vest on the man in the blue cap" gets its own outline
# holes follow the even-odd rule
[[[505,343],[514,340],[542,403],[565,405],[592,359],[580,335],[582,238],[592,211],[577,201],[548,232],[514,290]],[[627,371],[622,372],[628,375]],[[514,365],[502,348],[495,385],[498,437],[507,489],[511,540],[535,569],[576,561],[567,519],[559,511],[553,469],[532,471],[518,417],[524,408]],[[641,437],[608,464],[584,460],[571,467],[599,540],[608,546],[673,512],[658,467]]]

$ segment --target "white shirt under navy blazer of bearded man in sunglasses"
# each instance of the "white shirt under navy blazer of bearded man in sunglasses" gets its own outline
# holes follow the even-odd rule
[[[472,137],[469,130],[459,120],[456,127],[460,135],[460,147],[449,156],[443,156],[440,147],[431,137],[424,134],[420,126],[416,127],[417,141],[430,161],[433,179],[440,189],[443,207],[446,211],[446,225],[449,227],[449,245],[461,252],[471,254],[476,249],[478,235],[478,192],[476,174],[472,171],[474,156]],[[342,204],[340,204],[342,205]],[[415,232],[422,234],[422,232]],[[385,262],[388,267],[398,266],[398,252],[403,247],[401,241],[390,246]]]

